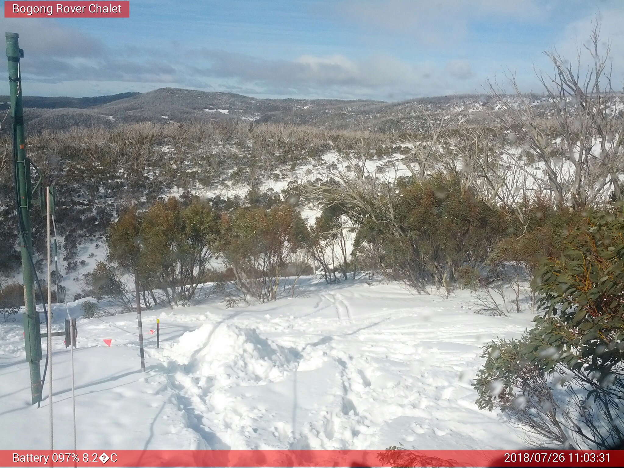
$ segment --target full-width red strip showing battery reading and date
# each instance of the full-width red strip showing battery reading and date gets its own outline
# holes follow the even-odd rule
[[[622,451],[563,450],[94,450],[0,451],[3,467],[609,467]]]

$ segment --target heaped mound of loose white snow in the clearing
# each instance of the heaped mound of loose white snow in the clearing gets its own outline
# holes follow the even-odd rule
[[[183,334],[163,356],[218,387],[279,381],[296,370],[299,358],[295,349],[262,338],[253,328],[218,323]]]

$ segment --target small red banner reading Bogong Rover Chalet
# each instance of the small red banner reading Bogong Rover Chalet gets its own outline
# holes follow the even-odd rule
[[[129,1],[4,2],[5,18],[129,18]]]

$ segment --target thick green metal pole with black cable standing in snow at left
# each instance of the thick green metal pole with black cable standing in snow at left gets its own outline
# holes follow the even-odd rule
[[[26,158],[26,140],[24,138],[24,110],[22,108],[22,80],[19,69],[19,59],[24,56],[24,51],[19,49],[15,32],[6,33],[6,56],[9,62],[9,87],[11,88],[11,115],[15,122],[14,154],[16,155],[15,170],[17,175],[17,200],[19,207],[18,220],[20,228],[20,247],[22,251],[22,276],[24,278],[24,304],[26,315],[24,316],[24,342],[26,344],[26,361],[31,368],[31,394],[32,404],[36,404],[41,396],[41,324],[39,313],[35,307],[33,291],[34,271],[30,253],[32,252],[31,241],[31,194],[30,168]]]

